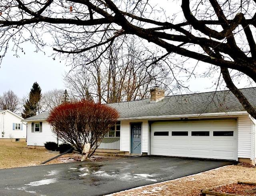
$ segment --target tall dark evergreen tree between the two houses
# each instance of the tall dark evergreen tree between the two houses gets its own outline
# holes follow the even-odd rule
[[[22,118],[29,118],[40,113],[39,102],[41,100],[41,97],[41,88],[37,82],[34,82],[32,88],[30,89],[29,99],[27,99],[24,104]]]

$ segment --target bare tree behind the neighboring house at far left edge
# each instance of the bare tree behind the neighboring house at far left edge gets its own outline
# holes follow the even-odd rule
[[[10,110],[15,113],[20,109],[19,104],[20,99],[12,90],[0,96],[0,110]]]

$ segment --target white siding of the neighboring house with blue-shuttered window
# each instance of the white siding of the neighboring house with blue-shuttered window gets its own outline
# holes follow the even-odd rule
[[[5,113],[5,114],[4,114]],[[21,122],[21,118],[18,118],[11,112],[3,112],[0,114],[0,138],[3,139],[26,139],[26,123]],[[22,130],[13,130],[12,124],[20,123],[22,125]],[[4,137],[2,137],[2,132]]]

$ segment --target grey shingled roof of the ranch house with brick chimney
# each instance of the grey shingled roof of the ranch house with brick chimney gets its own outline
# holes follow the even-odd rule
[[[256,108],[256,88],[240,90],[252,106]],[[245,111],[238,99],[229,90],[166,96],[156,103],[150,103],[150,99],[143,99],[106,105],[115,108],[119,112],[120,118]],[[24,121],[42,120],[46,119],[48,115],[49,112],[46,112],[27,118]]]

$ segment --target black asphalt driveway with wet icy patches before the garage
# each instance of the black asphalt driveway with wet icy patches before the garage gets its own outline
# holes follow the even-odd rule
[[[233,163],[143,156],[2,169],[0,195],[103,195]]]

